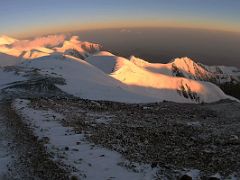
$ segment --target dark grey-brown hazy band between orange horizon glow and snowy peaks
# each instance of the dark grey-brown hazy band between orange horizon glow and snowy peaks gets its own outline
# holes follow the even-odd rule
[[[240,67],[240,33],[182,28],[134,28],[82,31],[82,40],[97,42],[116,55],[166,63],[190,57],[208,65]]]

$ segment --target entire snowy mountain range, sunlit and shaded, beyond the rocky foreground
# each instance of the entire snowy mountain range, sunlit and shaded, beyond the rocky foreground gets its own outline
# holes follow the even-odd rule
[[[66,84],[58,85],[61,90],[93,100],[210,103],[240,98],[240,69],[236,67],[207,66],[187,57],[168,64],[134,56],[127,59],[77,36],[33,40],[1,36],[0,66],[0,75],[7,66],[15,66],[63,78]]]

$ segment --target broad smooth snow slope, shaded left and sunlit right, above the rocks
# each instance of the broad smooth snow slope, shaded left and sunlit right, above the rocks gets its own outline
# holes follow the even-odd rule
[[[51,55],[24,62],[22,66],[41,69],[43,74],[57,74],[66,80],[66,85],[60,86],[63,91],[86,99],[127,103],[163,100],[198,103],[229,98],[211,83],[155,74],[124,58],[92,56],[87,60],[93,64],[97,61],[102,63],[95,64],[96,67],[72,56]],[[110,75],[104,73],[104,70],[109,72],[113,62],[117,70]]]

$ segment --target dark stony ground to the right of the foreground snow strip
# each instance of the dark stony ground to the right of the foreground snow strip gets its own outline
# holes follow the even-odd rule
[[[157,103],[126,105],[69,99],[33,99],[51,108],[64,123],[84,131],[89,141],[120,152],[132,162],[161,167],[159,178],[175,170],[198,169],[202,178],[240,172],[240,105]],[[229,108],[231,107],[231,108]],[[74,113],[73,113],[74,112]]]

